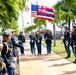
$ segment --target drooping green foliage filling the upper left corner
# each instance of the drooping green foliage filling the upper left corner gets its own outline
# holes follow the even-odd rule
[[[0,0],[0,27],[2,31],[7,28],[18,30],[19,12],[25,6],[25,0]]]

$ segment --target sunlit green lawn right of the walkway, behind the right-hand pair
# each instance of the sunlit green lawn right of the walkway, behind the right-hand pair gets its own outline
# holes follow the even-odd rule
[[[66,55],[66,51],[64,49],[64,44],[61,44],[62,39],[56,40],[56,46],[54,46],[54,41],[52,41],[52,51],[55,52],[56,54],[60,55],[61,57],[65,58]],[[43,46],[46,47],[45,41],[42,42]],[[74,61],[74,55],[72,52],[72,49],[70,47],[71,50],[71,57],[68,59],[70,61]]]

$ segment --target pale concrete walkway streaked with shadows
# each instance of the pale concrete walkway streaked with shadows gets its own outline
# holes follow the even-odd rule
[[[45,48],[42,48],[41,56],[32,55],[29,42],[26,43],[25,55],[19,59],[20,75],[76,75],[76,64],[53,52],[47,55]]]

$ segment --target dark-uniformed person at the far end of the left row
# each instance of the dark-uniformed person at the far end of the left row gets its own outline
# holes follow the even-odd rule
[[[23,35],[23,32],[21,31],[19,36],[18,36],[19,44],[21,45],[20,51],[21,55],[24,55],[24,43],[25,43],[25,36]]]

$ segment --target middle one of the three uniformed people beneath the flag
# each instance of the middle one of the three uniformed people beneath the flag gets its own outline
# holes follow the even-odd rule
[[[41,55],[42,49],[41,49],[41,41],[42,41],[42,36],[40,35],[39,31],[36,34],[36,45],[38,49],[38,55]]]

